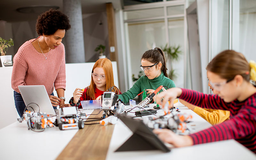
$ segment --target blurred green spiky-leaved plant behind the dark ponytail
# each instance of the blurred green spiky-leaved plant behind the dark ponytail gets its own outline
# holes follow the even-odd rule
[[[168,46],[168,44],[166,44],[163,48],[163,52],[165,53],[166,58],[168,59],[168,61],[170,62],[170,71],[169,71],[169,78],[174,80],[177,78],[177,75],[175,73],[175,69],[173,69],[172,67],[172,63],[174,61],[178,61],[180,58],[180,54],[182,53],[180,50],[180,45],[178,46]],[[167,62],[167,61],[166,61]]]

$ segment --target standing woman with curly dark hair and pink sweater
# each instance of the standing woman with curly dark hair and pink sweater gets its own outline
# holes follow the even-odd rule
[[[58,10],[50,9],[38,16],[36,32],[39,37],[22,44],[13,58],[12,88],[15,107],[20,115],[26,107],[19,85],[44,85],[53,108],[64,104],[66,88],[65,48],[62,38],[71,26],[68,17]],[[53,89],[58,94],[53,95]]]

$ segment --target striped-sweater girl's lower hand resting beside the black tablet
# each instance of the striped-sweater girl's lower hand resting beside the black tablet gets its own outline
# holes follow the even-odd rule
[[[193,140],[189,136],[180,136],[169,129],[154,129],[153,132],[163,142],[170,143],[174,147],[192,146]]]

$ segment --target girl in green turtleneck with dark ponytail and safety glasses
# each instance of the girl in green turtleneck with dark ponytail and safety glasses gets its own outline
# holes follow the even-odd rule
[[[118,95],[118,98],[128,103],[129,100],[136,97],[143,89],[149,93],[154,92],[160,85],[168,88],[175,87],[174,82],[167,78],[167,68],[163,51],[156,47],[153,50],[146,51],[141,57],[140,68],[145,76],[141,76],[127,92]],[[161,92],[160,90],[159,92]]]

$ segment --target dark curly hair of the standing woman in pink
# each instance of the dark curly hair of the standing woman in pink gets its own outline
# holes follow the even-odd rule
[[[58,10],[50,9],[38,16],[36,20],[36,33],[39,36],[52,35],[58,29],[67,31],[70,28],[68,17]]]

